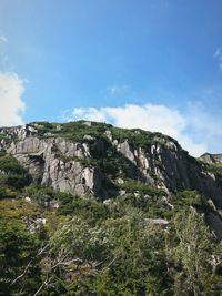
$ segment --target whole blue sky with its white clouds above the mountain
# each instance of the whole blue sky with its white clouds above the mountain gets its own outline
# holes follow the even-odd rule
[[[80,119],[222,153],[222,1],[0,0],[0,126]]]

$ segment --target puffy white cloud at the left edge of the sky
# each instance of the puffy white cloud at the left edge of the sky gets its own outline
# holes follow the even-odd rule
[[[23,124],[24,82],[13,72],[0,72],[0,126]]]

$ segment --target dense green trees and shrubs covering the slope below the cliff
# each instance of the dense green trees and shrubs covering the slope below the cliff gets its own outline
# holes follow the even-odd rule
[[[124,190],[102,203],[29,185],[1,200],[0,295],[220,295],[222,247],[195,211],[204,198]],[[47,223],[32,232],[24,217]]]

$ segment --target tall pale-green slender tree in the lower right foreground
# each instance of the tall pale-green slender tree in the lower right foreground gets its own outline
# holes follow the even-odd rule
[[[173,220],[173,227],[174,239],[178,239],[174,248],[170,249],[176,267],[174,295],[201,295],[203,292],[209,296],[218,295],[214,294],[211,265],[213,244],[203,217],[194,211],[179,212]]]

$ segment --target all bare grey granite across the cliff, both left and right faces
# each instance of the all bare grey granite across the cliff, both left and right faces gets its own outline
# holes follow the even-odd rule
[[[91,125],[88,126],[91,129]],[[61,126],[58,125],[57,129]],[[196,190],[222,206],[221,182],[213,173],[204,171],[200,162],[170,137],[163,137],[161,143],[153,141],[145,146],[135,146],[128,139],[115,139],[108,129],[102,137],[84,134],[77,142],[49,133],[40,136],[38,125],[34,124],[2,127],[0,135],[3,135],[3,139],[0,137],[0,150],[11,153],[29,171],[37,184],[105,198],[104,172],[95,163],[100,155],[105,157],[110,153],[107,141],[128,165],[125,177],[164,188],[169,195],[176,191]],[[92,147],[97,151],[97,160]],[[205,154],[202,159],[206,162],[220,162],[221,155]],[[110,172],[107,175],[118,183]]]

